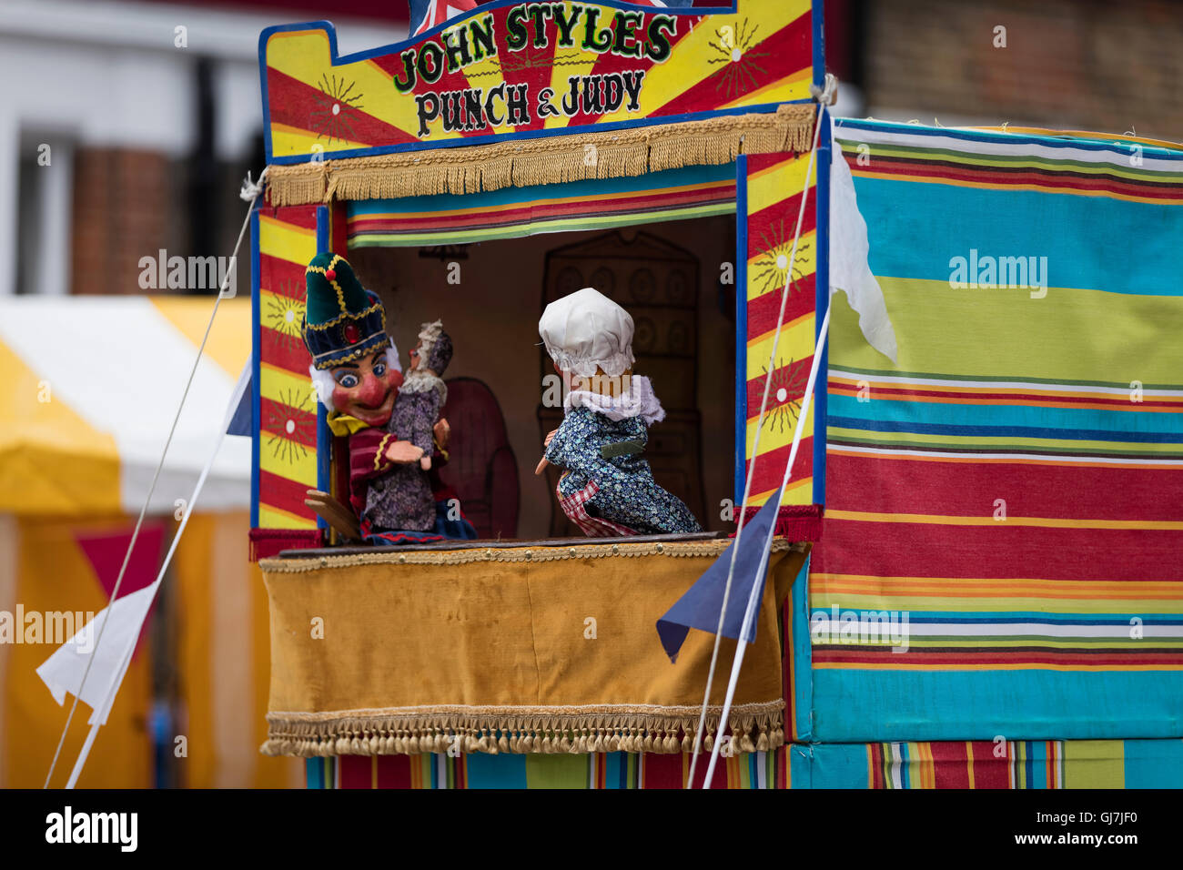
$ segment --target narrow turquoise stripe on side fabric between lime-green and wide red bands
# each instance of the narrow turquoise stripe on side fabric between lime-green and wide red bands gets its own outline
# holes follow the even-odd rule
[[[1028,405],[958,405],[953,402],[900,401],[875,399],[860,402],[851,395],[829,398],[830,417],[865,420],[868,424],[923,424],[926,426],[989,426],[1000,430],[1066,430],[1060,437],[1079,438],[1081,431],[1111,432],[1112,440],[1121,436],[1163,434],[1183,437],[1183,414],[1145,411],[1101,411],[1098,408],[1032,407]],[[866,428],[875,430],[873,425]],[[1077,434],[1072,434],[1077,433]],[[998,432],[1000,436],[1006,432]],[[1056,437],[1039,436],[1039,437]],[[1088,440],[1110,440],[1090,438]],[[1137,440],[1145,440],[1139,438]],[[1170,438],[1156,439],[1170,442]]]

